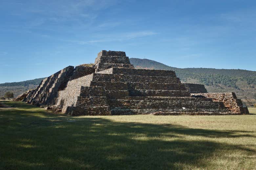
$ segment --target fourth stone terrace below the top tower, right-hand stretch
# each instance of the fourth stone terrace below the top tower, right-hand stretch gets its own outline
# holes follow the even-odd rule
[[[129,96],[189,97],[190,93],[185,90],[129,90]]]

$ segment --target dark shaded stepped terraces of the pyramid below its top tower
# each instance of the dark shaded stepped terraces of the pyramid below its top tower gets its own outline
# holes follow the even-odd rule
[[[222,102],[193,98],[174,71],[110,68],[93,73],[74,107],[78,115],[231,114]]]

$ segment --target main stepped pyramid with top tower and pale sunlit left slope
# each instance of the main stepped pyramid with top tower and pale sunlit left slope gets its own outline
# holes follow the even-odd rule
[[[101,51],[95,72],[70,80],[56,107],[79,115],[232,114],[222,102],[194,98],[170,70],[134,69],[125,52]]]

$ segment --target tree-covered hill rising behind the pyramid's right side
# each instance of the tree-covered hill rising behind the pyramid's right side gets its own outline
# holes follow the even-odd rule
[[[256,71],[207,68],[180,69],[153,60],[139,58],[130,58],[130,62],[137,69],[174,70],[181,81],[204,84],[209,92],[235,91],[240,98],[256,98]]]

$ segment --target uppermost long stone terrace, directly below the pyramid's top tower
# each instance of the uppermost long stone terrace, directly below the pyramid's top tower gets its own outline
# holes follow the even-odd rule
[[[113,68],[112,74],[129,74],[136,76],[160,76],[160,77],[176,77],[175,71],[171,70],[148,70],[148,69],[127,69]]]

